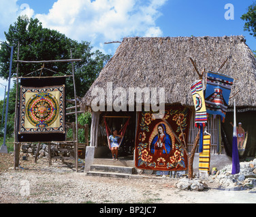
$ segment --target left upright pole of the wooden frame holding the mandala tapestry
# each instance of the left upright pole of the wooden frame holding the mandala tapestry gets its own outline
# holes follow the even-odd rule
[[[20,41],[18,41],[18,60],[20,56]],[[20,161],[20,143],[17,143],[18,136],[18,62],[17,62],[17,68],[16,68],[16,101],[15,101],[15,114],[14,114],[14,170],[16,170],[16,167],[18,167],[18,163]]]

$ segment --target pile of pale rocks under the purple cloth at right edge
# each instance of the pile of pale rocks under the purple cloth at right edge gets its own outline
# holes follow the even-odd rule
[[[232,165],[227,165],[214,176],[219,186],[233,191],[250,190],[256,192],[256,159],[240,162],[240,173],[231,174]]]

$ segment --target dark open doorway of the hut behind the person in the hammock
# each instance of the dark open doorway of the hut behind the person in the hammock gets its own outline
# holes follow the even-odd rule
[[[133,151],[135,149],[135,134],[136,134],[136,112],[103,112],[99,116],[99,133],[97,147],[102,149],[97,157],[98,158],[111,158],[112,154],[108,147],[108,136],[106,132],[106,126],[104,123],[104,117],[110,131],[121,130],[121,127],[125,125],[128,117],[129,124],[125,130],[123,142],[118,150],[118,157],[122,159],[133,159]],[[101,147],[101,148],[100,148]]]

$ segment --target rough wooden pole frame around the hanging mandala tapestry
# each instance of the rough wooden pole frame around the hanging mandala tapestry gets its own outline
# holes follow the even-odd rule
[[[74,62],[78,62],[78,61],[82,61],[82,59],[73,59],[72,58],[72,52],[70,50],[70,56],[71,58],[68,60],[40,60],[40,61],[26,61],[26,60],[19,60],[19,53],[20,53],[20,43],[18,42],[18,57],[17,60],[14,60],[14,62],[17,62],[17,67],[16,67],[16,102],[15,102],[15,117],[14,117],[14,170],[16,170],[16,167],[18,167],[18,163],[19,163],[19,152],[20,152],[20,144],[21,142],[17,141],[17,127],[18,127],[18,112],[17,112],[17,108],[18,108],[18,79],[23,78],[23,77],[18,77],[18,67],[19,67],[19,63],[42,63],[43,66],[42,68],[40,68],[41,70],[44,68],[44,63],[48,63],[48,62],[71,62],[71,67],[72,67],[72,75],[65,75],[65,76],[61,76],[61,77],[73,77],[73,85],[74,85],[74,97],[76,98],[76,83],[75,83],[75,75],[74,75]],[[39,70],[40,70],[39,69]],[[46,68],[47,69],[47,68]],[[37,71],[39,71],[37,70]],[[34,71],[35,72],[35,71]],[[33,72],[32,72],[33,73]],[[31,74],[31,73],[29,73]],[[41,77],[42,71],[40,73],[40,77]],[[28,77],[26,77],[28,78]],[[37,77],[33,77],[33,78],[37,78]],[[77,111],[77,101],[75,100],[75,115],[76,115],[76,141],[74,142],[74,145],[76,146],[76,153],[75,153],[75,166],[76,166],[76,172],[78,172],[78,111]],[[52,141],[54,142],[54,141]],[[48,144],[48,149],[50,149],[50,145],[52,142],[46,142]],[[61,142],[61,141],[58,141]],[[63,141],[63,142],[69,142],[69,141]],[[50,157],[49,157],[49,164],[50,164]],[[36,159],[35,159],[36,161]]]

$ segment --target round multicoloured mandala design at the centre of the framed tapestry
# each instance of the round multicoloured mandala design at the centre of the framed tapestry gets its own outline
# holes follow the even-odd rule
[[[47,92],[35,94],[26,104],[26,117],[35,127],[48,127],[56,121],[59,115],[57,98]]]

